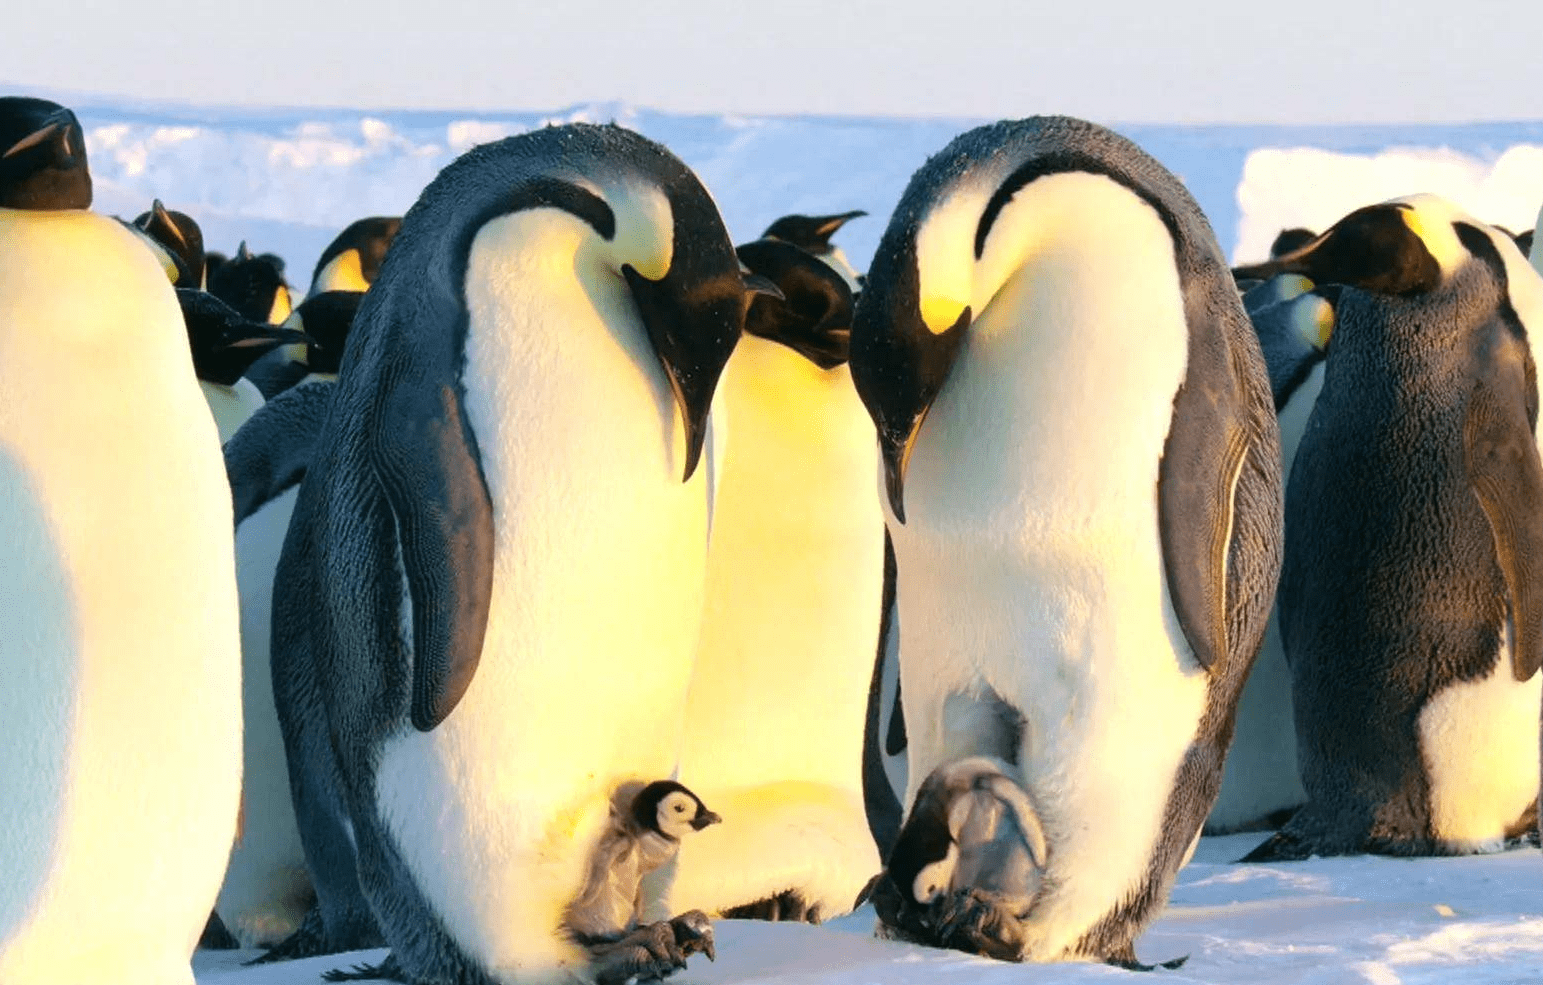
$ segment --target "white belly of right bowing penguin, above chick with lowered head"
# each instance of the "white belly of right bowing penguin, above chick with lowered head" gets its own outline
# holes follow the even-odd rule
[[[1188,354],[1173,247],[1128,193],[1075,208],[1108,184],[1046,178],[1009,205],[1082,218],[1052,216],[1058,235],[971,326],[915,443],[907,522],[890,526],[906,800],[940,763],[1018,758],[1049,846],[1034,960],[1142,883],[1207,695],[1157,526]],[[1026,719],[1018,746],[988,689]]]

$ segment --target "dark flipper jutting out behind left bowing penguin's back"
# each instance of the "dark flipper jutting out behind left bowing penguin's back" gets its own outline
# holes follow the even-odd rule
[[[335,384],[316,380],[262,404],[225,442],[236,525],[306,477]]]

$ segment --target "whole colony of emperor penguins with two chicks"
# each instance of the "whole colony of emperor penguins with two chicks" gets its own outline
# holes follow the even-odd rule
[[[1543,279],[1441,199],[1230,270],[1139,147],[1032,117],[923,164],[864,276],[866,213],[736,249],[568,125],[299,304],[89,205],[74,114],[0,99],[6,985],[191,982],[201,933],[625,985],[867,902],[1151,968],[1202,831],[1537,826]]]

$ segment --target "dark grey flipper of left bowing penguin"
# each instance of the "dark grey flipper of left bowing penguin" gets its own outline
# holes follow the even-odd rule
[[[421,381],[420,381],[421,383]],[[471,687],[492,607],[492,497],[454,386],[383,395],[372,460],[412,602],[412,709],[432,732]]]

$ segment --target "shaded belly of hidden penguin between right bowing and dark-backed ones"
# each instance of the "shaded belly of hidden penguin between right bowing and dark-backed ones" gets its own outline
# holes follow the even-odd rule
[[[1307,418],[1324,389],[1318,363],[1281,408],[1281,476],[1290,479]],[[1267,815],[1307,803],[1296,766],[1296,719],[1291,704],[1291,669],[1281,642],[1279,607],[1270,610],[1264,642],[1248,682],[1237,699],[1233,744],[1227,752],[1222,789],[1205,821],[1207,831],[1247,829]]]

